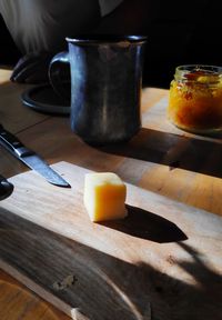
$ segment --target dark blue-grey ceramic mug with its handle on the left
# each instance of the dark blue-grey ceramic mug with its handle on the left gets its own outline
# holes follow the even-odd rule
[[[50,82],[60,94],[59,66],[70,63],[71,129],[91,144],[123,142],[141,127],[140,103],[143,36],[67,38],[69,52],[49,67]],[[59,63],[58,63],[59,62]]]

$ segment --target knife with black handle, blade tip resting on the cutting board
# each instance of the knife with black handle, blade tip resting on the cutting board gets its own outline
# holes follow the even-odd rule
[[[42,158],[31,149],[28,149],[17,137],[7,131],[2,124],[0,124],[0,144],[29,168],[43,176],[48,182],[59,187],[70,188],[70,184],[51,169]]]

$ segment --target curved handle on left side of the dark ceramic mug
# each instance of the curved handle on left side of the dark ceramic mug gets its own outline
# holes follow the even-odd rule
[[[69,66],[69,69],[61,68],[61,64]],[[70,101],[71,89],[69,88],[68,92],[68,90],[64,88],[64,84],[70,83],[70,61],[68,51],[59,52],[52,58],[49,64],[48,74],[50,84],[52,86],[54,92],[63,100]]]

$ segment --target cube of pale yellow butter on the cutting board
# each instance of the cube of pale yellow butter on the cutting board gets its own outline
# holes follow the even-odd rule
[[[123,219],[127,187],[113,172],[87,173],[84,178],[84,206],[91,221]]]

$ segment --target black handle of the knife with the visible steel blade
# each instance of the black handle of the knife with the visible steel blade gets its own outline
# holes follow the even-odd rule
[[[24,147],[23,143],[7,131],[2,124],[0,124],[0,144],[18,158],[33,154],[33,151]]]

